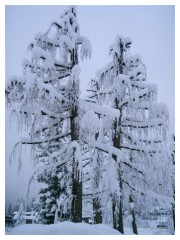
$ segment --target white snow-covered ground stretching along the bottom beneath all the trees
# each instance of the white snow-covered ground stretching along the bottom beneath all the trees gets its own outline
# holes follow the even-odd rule
[[[125,235],[134,235],[131,227],[125,227]],[[139,235],[169,235],[167,229],[138,228]],[[59,222],[56,224],[24,224],[6,229],[6,235],[121,235],[105,224]]]

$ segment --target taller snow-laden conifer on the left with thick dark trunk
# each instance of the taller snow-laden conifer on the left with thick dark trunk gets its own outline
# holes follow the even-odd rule
[[[26,126],[30,135],[16,144],[14,153],[20,152],[22,145],[31,145],[34,163],[39,165],[34,175],[48,185],[41,190],[44,194],[41,199],[46,198],[43,209],[53,208],[52,212],[56,212],[54,206],[62,207],[57,203],[61,188],[56,189],[56,186],[58,181],[67,180],[66,184],[71,187],[71,194],[68,193],[70,216],[72,221],[81,222],[82,181],[80,156],[77,154],[78,61],[91,56],[91,44],[80,35],[76,15],[76,8],[71,6],[52,22],[47,32],[36,34],[28,47],[31,58],[23,61],[23,77],[9,79],[6,99],[10,111],[17,117],[19,128]],[[22,160],[18,159],[21,166]],[[68,172],[61,178],[59,173],[64,165]],[[42,177],[42,171],[47,175]],[[57,191],[55,196],[54,189]]]

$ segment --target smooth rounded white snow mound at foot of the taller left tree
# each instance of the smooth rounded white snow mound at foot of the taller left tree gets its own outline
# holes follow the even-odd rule
[[[51,225],[20,225],[9,235],[120,235],[120,233],[104,224],[61,222]]]

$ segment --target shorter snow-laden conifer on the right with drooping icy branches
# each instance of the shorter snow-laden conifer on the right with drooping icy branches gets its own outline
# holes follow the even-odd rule
[[[119,182],[119,195],[115,191],[112,197],[113,226],[122,233],[123,208],[128,207],[129,197],[142,208],[145,197],[160,193],[159,186],[167,174],[168,110],[156,102],[157,86],[147,83],[146,67],[139,55],[130,54],[131,44],[130,38],[116,37],[110,46],[113,60],[91,80],[86,98],[91,108],[108,106],[117,111],[111,119],[107,113],[101,114],[98,140],[121,152],[111,152],[111,159],[117,165]],[[94,112],[100,114],[96,109]],[[163,195],[165,186],[162,188]]]

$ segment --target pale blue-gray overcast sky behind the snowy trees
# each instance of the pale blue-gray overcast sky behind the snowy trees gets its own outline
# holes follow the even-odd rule
[[[34,34],[45,32],[65,8],[66,6],[6,7],[6,77],[22,75],[21,63],[24,58],[29,57],[26,50],[34,39]],[[81,91],[84,93],[91,77],[111,60],[109,46],[116,35],[131,37],[133,42],[131,53],[141,55],[147,66],[148,82],[158,85],[158,102],[167,104],[170,131],[174,132],[174,7],[77,6],[77,14],[80,34],[90,39],[93,50],[91,60],[80,64]],[[8,125],[6,127],[9,128]],[[6,156],[16,141],[16,138],[12,138],[12,130],[7,131]],[[9,179],[10,172],[7,172],[6,176],[6,193],[11,197],[16,195],[17,191],[13,189],[17,189],[19,183],[21,189],[27,184],[26,181],[22,181],[23,173],[18,178],[21,178],[21,181],[14,182],[13,187]]]

